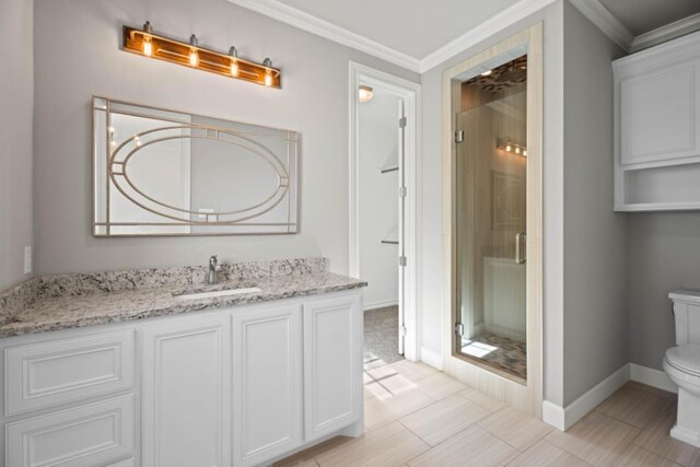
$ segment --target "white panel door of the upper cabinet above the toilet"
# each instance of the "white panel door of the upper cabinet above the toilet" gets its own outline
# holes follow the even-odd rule
[[[622,165],[698,155],[698,83],[693,63],[620,82]]]

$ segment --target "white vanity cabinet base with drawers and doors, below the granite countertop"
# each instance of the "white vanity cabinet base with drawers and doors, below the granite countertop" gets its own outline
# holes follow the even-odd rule
[[[362,292],[0,339],[0,465],[266,465],[362,433]]]

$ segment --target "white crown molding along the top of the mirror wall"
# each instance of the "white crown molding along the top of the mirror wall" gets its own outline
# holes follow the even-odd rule
[[[240,7],[264,14],[273,20],[351,47],[374,57],[398,65],[411,71],[420,72],[420,60],[374,40],[362,37],[343,27],[336,26],[308,13],[289,7],[277,0],[229,0]]]

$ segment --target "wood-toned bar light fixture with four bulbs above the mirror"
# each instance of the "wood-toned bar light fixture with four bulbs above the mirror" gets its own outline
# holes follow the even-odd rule
[[[154,34],[149,21],[140,30],[124,26],[124,50],[268,87],[281,87],[281,72],[272,67],[269,58],[256,63],[238,58],[235,47],[231,47],[229,54],[200,47],[195,34],[189,42]]]

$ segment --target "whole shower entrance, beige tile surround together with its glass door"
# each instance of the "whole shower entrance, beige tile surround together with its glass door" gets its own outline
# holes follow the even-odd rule
[[[541,23],[443,72],[443,370],[542,402]]]

